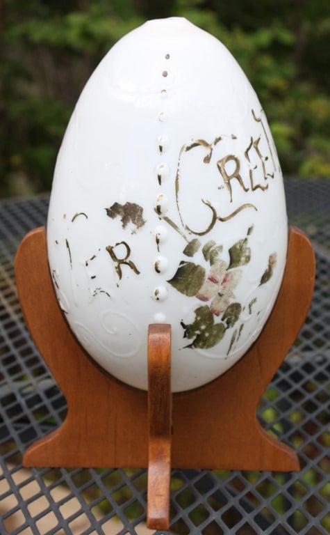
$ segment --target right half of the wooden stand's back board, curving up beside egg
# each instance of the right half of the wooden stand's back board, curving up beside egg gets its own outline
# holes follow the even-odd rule
[[[194,458],[194,467],[204,469],[299,470],[295,451],[265,432],[256,409],[304,324],[314,281],[311,242],[298,228],[290,227],[281,289],[254,345],[224,375],[174,396],[172,451],[176,466],[190,468]]]

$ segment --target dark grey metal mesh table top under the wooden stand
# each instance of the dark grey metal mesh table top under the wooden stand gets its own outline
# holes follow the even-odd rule
[[[286,199],[290,224],[306,231],[315,249],[315,292],[258,418],[297,451],[302,469],[173,470],[172,534],[330,533],[330,180],[290,178]],[[47,207],[47,196],[0,201],[0,533],[154,533],[145,526],[145,470],[22,467],[26,447],[66,413],[24,325],[13,272],[20,240],[45,224]]]

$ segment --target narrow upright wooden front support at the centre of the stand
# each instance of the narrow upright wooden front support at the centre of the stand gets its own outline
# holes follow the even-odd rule
[[[168,529],[172,428],[170,325],[149,325],[148,419],[147,527]]]

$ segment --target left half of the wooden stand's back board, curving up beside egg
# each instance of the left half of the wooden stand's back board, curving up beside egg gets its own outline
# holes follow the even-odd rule
[[[26,450],[24,466],[147,467],[147,393],[101,369],[69,329],[51,281],[44,227],[22,240],[15,274],[26,325],[68,406],[62,426]]]

